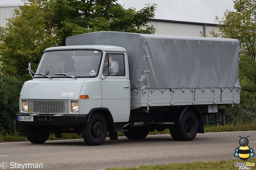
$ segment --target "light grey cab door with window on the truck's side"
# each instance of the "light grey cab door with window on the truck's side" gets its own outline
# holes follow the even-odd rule
[[[110,68],[115,63],[115,70]],[[128,122],[130,116],[130,80],[126,53],[107,53],[102,74],[102,107],[114,122]]]

